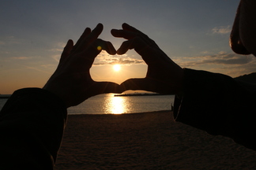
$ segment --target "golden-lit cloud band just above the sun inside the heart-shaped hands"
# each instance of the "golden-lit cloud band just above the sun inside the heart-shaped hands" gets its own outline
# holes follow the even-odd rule
[[[94,61],[93,65],[145,65],[145,61],[127,57],[126,54],[123,55],[110,55],[107,54],[106,51],[102,51],[96,60]]]

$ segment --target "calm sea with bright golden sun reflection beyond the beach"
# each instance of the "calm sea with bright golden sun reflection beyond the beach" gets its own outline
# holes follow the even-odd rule
[[[68,108],[68,114],[122,114],[171,110],[174,95],[115,96],[100,94]],[[0,109],[8,99],[0,98]]]

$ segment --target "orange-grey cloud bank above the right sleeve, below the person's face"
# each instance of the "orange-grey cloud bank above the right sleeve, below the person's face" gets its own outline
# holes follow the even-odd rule
[[[213,55],[174,57],[173,59],[183,68],[219,72],[232,77],[256,72],[256,60],[253,55],[244,56],[221,51]]]

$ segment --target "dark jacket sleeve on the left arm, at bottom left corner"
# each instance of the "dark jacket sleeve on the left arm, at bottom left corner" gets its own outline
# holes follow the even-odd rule
[[[53,169],[66,116],[49,91],[15,91],[0,113],[0,169]]]

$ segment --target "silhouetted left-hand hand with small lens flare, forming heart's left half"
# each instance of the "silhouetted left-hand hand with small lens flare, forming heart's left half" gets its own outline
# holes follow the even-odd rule
[[[43,87],[62,98],[66,107],[78,105],[96,94],[122,93],[119,84],[96,82],[90,76],[89,69],[101,50],[116,54],[111,42],[97,39],[102,31],[103,25],[98,24],[92,31],[86,28],[75,46],[69,40],[62,52],[58,68]]]

